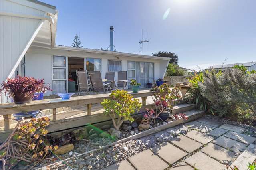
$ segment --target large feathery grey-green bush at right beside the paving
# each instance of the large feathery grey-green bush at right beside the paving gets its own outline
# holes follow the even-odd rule
[[[200,93],[214,113],[238,121],[252,123],[256,118],[256,74],[240,68],[228,68],[221,75],[214,70],[204,72]]]

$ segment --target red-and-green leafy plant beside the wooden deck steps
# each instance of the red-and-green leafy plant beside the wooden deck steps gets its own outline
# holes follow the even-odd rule
[[[152,98],[155,103],[156,112],[153,109],[147,109],[142,123],[150,123],[155,121],[155,119],[159,117],[161,113],[165,113],[166,111],[172,109],[172,102],[175,103],[177,99],[181,99],[179,89],[177,87],[171,89],[166,83],[163,83],[159,87],[155,87],[153,91],[154,93]]]

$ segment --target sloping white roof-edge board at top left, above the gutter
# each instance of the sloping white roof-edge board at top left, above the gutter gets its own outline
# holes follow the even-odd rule
[[[44,11],[44,12],[48,12],[51,14],[55,14],[56,13],[56,9],[55,8],[50,8],[46,5],[42,5],[42,4],[38,4],[36,2],[32,2],[32,1],[28,1],[28,0],[8,0],[10,2],[14,2],[16,4],[21,4],[30,8],[34,8],[40,11]]]

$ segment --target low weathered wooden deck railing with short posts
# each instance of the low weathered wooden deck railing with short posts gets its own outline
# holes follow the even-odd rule
[[[141,90],[138,93],[129,93],[133,98],[141,97],[142,105],[146,105],[146,99],[148,96],[153,95],[153,92],[150,90]],[[101,103],[103,99],[108,99],[110,94],[100,94],[100,95],[87,95],[87,96],[78,96],[71,97],[69,100],[56,100],[56,99],[45,99],[32,101],[26,104],[15,104],[15,103],[4,103],[0,105],[0,115],[4,117],[4,130],[10,129],[10,118],[13,113],[19,112],[28,112],[34,110],[44,110],[44,109],[53,109],[52,110],[52,121],[56,122],[56,109],[60,107],[70,107],[77,105],[87,105],[87,116],[91,115],[91,108],[93,104]]]

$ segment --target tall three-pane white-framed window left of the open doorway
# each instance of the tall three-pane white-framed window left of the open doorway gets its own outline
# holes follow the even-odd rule
[[[66,57],[53,56],[52,59],[52,90],[53,94],[66,92]]]

